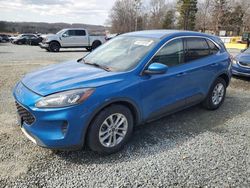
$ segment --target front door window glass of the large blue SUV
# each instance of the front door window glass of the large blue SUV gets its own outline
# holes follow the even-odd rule
[[[168,67],[180,65],[184,62],[184,47],[182,39],[176,39],[167,43],[151,61],[162,63]]]

